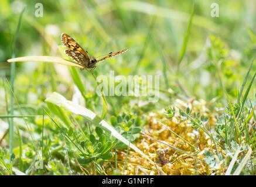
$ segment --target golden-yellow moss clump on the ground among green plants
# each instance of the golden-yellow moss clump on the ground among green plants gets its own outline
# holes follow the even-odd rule
[[[188,107],[193,112],[200,112],[201,115],[209,117],[207,126],[214,126],[216,119],[214,114],[206,108],[206,102],[190,101],[184,103],[180,100],[175,101],[175,105],[181,109]],[[178,108],[176,108],[178,109]],[[195,150],[192,146],[183,141],[180,137],[173,134],[170,130],[166,129],[163,124],[168,126],[180,137],[184,138],[190,144],[195,146],[198,150]],[[148,136],[144,136],[147,134]],[[165,141],[170,146],[179,148],[194,156],[191,157],[185,153],[175,150],[165,144],[153,140]],[[204,150],[211,150],[215,148],[210,137],[207,136],[203,130],[195,129],[189,120],[182,121],[182,117],[179,116],[179,112],[176,112],[175,117],[166,119],[164,111],[158,111],[155,113],[149,113],[146,125],[141,133],[141,136],[134,142],[142,152],[151,158],[166,175],[210,175],[213,174],[212,169],[204,162]],[[156,169],[156,166],[151,164],[141,155],[135,153],[133,150],[129,150],[126,167],[124,170],[124,161],[127,151],[117,150],[117,168],[122,175],[162,175],[161,172]],[[197,158],[197,159],[196,159]],[[114,157],[112,158],[114,160]],[[105,164],[107,174],[112,175],[112,169],[109,167],[109,162]],[[111,162],[112,168],[115,168],[115,162]]]

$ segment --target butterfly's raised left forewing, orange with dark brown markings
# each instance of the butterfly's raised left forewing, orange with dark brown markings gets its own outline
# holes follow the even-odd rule
[[[79,46],[79,44],[76,41],[74,41],[73,38],[71,38],[69,35],[65,33],[62,33],[61,38],[64,46],[66,46],[68,49],[72,51],[76,51],[76,53],[83,54],[83,56],[86,58],[86,61],[90,61],[90,57],[88,56],[86,51],[84,51],[83,48],[81,48],[81,46]]]

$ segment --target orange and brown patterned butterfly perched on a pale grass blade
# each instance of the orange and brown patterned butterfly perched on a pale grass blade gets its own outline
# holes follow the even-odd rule
[[[97,60],[97,58],[95,57],[89,57],[88,52],[85,51],[83,48],[81,48],[81,46],[79,46],[79,44],[69,35],[62,33],[61,39],[62,39],[63,45],[67,47],[67,50],[65,50],[65,53],[68,56],[70,56],[74,61],[76,61],[79,65],[91,70],[94,70],[96,68],[96,64],[98,62],[103,61],[107,58],[117,56],[118,54],[122,54],[128,50],[128,49],[124,49],[116,53],[111,52],[107,56]]]

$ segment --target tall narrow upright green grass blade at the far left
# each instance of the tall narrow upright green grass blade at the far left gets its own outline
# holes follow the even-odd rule
[[[23,12],[25,11],[25,8],[23,8],[21,14],[19,15],[19,21],[18,21],[18,26],[13,38],[13,42],[12,42],[12,58],[15,57],[15,46],[16,46],[16,40],[18,37],[18,33],[19,33],[19,28],[21,27],[21,20],[22,20],[22,15]],[[11,64],[11,89],[12,91],[14,91],[14,79],[15,79],[15,63]],[[14,99],[13,99],[13,95],[12,95],[12,91],[11,91],[11,115],[13,115],[14,113]],[[13,118],[10,119],[10,123],[9,123],[9,159],[11,161],[11,157],[12,157],[12,150],[13,150]]]

